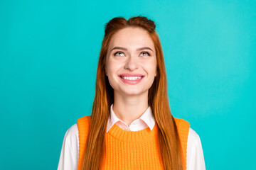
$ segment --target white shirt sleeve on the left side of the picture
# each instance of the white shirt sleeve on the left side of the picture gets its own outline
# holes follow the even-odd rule
[[[58,170],[75,170],[78,169],[78,124],[71,126],[65,132],[63,145],[60,152]]]

